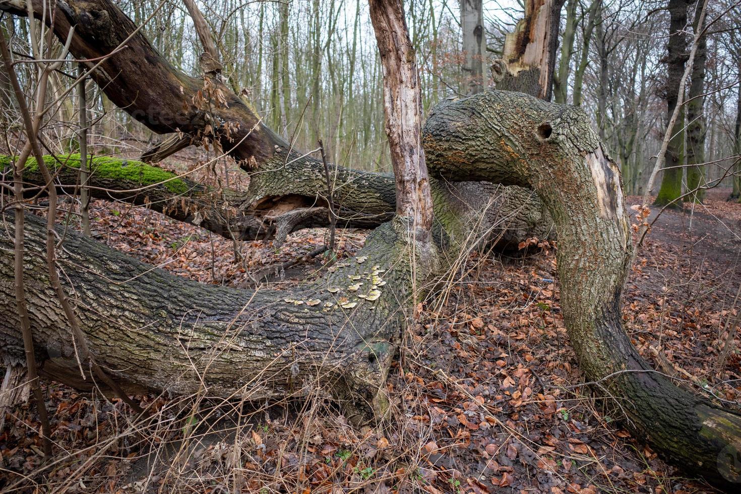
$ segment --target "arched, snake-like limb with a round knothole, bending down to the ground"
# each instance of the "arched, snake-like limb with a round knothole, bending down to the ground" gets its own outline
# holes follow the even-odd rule
[[[436,107],[423,138],[432,174],[530,185],[548,207],[569,340],[585,378],[625,403],[628,429],[716,485],[740,478],[741,415],[656,373],[622,327],[628,217],[617,165],[584,111],[488,91]]]

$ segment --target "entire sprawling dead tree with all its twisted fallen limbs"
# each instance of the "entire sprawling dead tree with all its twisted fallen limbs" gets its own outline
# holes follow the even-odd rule
[[[445,254],[470,238],[472,225],[478,241],[488,241],[502,212],[531,227],[552,218],[562,311],[585,378],[628,404],[626,425],[637,437],[685,470],[727,486],[740,473],[734,455],[741,450],[741,416],[676,387],[639,356],[623,330],[631,236],[619,170],[582,110],[547,101],[561,3],[526,2],[528,15],[500,66],[501,87],[529,88],[540,99],[487,90],[443,101],[421,127],[401,5],[371,1],[394,173],[332,165],[344,184],[335,191],[338,215],[347,226],[375,230],[357,256],[318,281],[283,291],[197,284],[67,233],[57,262],[94,361],[127,393],[207,387],[210,395],[265,399],[300,395],[318,381],[348,410],[383,413],[383,383],[408,308],[421,282],[445,269]],[[111,0],[10,0],[0,8],[43,19],[59,39],[69,39],[70,53],[110,101],[150,130],[214,145],[250,174],[246,193],[215,197],[158,167],[98,158],[89,164],[91,191],[98,181],[124,201],[156,198],[173,218],[239,238],[281,238],[328,224],[322,162],[265,126],[216,70],[205,68],[201,78],[176,70]],[[539,53],[528,50],[533,45]],[[45,161],[56,186],[70,189],[66,174],[76,177],[79,160]],[[40,164],[28,161],[27,180]],[[493,184],[523,189],[502,198]],[[525,189],[539,201],[525,201],[528,193],[519,195]],[[3,215],[13,233],[13,210]],[[36,216],[26,220],[25,296],[40,373],[90,388],[93,379],[87,369],[82,378],[67,330],[70,318],[47,295],[50,273],[41,254],[51,234]],[[13,244],[6,236],[0,244],[0,355],[5,364],[19,364]]]

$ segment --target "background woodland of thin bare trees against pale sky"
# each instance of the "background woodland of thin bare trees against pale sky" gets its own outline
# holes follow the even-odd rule
[[[688,52],[695,3],[685,2],[685,32],[674,36],[669,36],[666,0],[567,0],[562,9],[554,101],[579,105],[594,119],[622,169],[627,194],[642,194],[648,181],[651,157],[657,155],[668,121],[666,98],[677,85],[677,81],[670,84],[667,76],[668,39],[681,36]],[[119,4],[137,25],[144,25],[153,46],[176,67],[194,76],[199,73],[199,41],[182,4],[148,0]],[[222,56],[227,84],[255,104],[268,126],[291,138],[299,149],[314,149],[322,138],[328,158],[338,164],[391,170],[383,127],[382,74],[364,1],[206,0],[199,4]],[[515,1],[483,2],[486,85],[491,83],[488,67],[501,56],[504,35],[514,29],[522,8]],[[471,78],[465,70],[459,4],[410,0],[405,10],[426,113],[441,99],[468,94]],[[717,184],[722,178],[720,185],[726,187],[732,185],[729,169],[739,154],[739,12],[733,0],[709,2],[708,19],[722,16],[705,35],[702,113],[677,123],[677,129],[703,124],[707,181]],[[29,36],[27,21],[16,19],[12,25],[13,20],[6,18],[4,23],[16,34],[16,51],[30,53],[24,44]],[[63,73],[74,71],[71,63],[65,64],[53,76],[53,95],[68,90],[71,79]],[[28,72],[25,75],[30,77]],[[13,107],[3,79],[0,75],[0,104]],[[686,91],[690,92],[689,81]],[[154,140],[97,87],[90,87],[87,99],[93,122],[90,153],[141,153]],[[59,152],[76,151],[78,118],[73,98],[59,102],[52,120],[46,128],[47,141]],[[684,164],[687,153],[681,152]]]

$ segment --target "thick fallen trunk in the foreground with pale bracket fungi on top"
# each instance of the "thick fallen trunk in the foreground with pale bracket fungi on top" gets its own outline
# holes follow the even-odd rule
[[[5,219],[13,213],[5,213]],[[11,229],[12,230],[12,229]],[[321,384],[351,405],[385,379],[408,301],[408,246],[400,221],[376,229],[355,258],[293,290],[198,284],[68,233],[59,251],[65,288],[91,352],[122,389],[250,399],[279,398]],[[11,231],[12,234],[12,231]],[[27,304],[41,374],[80,389],[67,318],[47,294],[44,225],[27,215]],[[0,240],[0,293],[12,300],[12,244]],[[4,364],[23,361],[18,316],[0,307]]]

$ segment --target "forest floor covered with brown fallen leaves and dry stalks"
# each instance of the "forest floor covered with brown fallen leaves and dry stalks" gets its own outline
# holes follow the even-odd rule
[[[634,344],[682,386],[741,403],[741,204],[714,190],[667,211],[639,251],[624,294]],[[638,198],[628,198],[628,204]],[[235,246],[142,208],[94,201],[101,241],[179,276],[237,287],[308,253],[325,230]],[[656,216],[651,214],[649,221]],[[342,232],[339,256],[365,234]],[[237,259],[236,259],[237,258]],[[235,261],[236,259],[236,261]],[[316,276],[322,258],[275,286]],[[273,271],[275,271],[273,269]],[[391,414],[353,426],[320,392],[267,405],[203,396],[137,397],[126,407],[46,387],[55,461],[44,464],[35,408],[8,410],[0,430],[3,492],[701,493],[620,426],[619,397],[582,381],[559,307],[554,248],[472,253],[443,293],[421,304],[388,379]],[[259,281],[259,280],[257,280]],[[735,319],[735,320],[734,320]],[[602,398],[602,399],[600,399]]]

